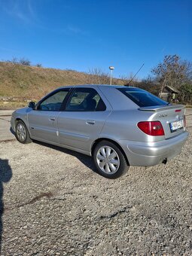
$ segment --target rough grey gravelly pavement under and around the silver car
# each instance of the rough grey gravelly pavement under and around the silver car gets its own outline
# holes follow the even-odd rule
[[[82,154],[1,142],[1,255],[191,255],[191,117],[178,157],[117,180]]]

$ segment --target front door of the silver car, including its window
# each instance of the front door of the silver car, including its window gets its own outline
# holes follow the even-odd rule
[[[58,143],[57,119],[69,88],[56,90],[38,103],[28,114],[29,133],[32,139]]]

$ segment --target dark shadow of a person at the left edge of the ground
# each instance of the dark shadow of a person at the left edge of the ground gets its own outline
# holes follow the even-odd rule
[[[8,160],[2,160],[0,158],[0,254],[2,249],[2,232],[3,232],[3,224],[2,224],[2,215],[4,213],[4,203],[3,203],[3,183],[7,183],[11,180],[12,177],[12,169],[8,164]]]

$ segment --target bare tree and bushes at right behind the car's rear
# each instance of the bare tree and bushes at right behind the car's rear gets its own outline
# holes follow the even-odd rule
[[[142,81],[134,81],[134,86],[142,87],[151,93],[161,96],[166,86],[179,91],[178,102],[192,105],[192,63],[182,60],[178,55],[166,55],[151,69],[151,76]],[[126,83],[125,85],[130,85]]]

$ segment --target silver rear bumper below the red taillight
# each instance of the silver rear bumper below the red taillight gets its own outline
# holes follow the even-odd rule
[[[120,140],[130,166],[154,166],[162,163],[166,158],[172,159],[181,152],[187,140],[188,133],[161,142],[133,142]]]

